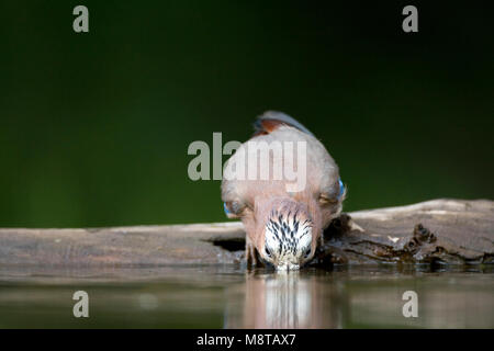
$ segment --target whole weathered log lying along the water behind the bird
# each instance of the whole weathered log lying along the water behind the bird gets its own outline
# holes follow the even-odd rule
[[[0,264],[234,263],[239,223],[100,229],[0,229]],[[343,215],[325,233],[322,264],[494,263],[494,202],[436,200]]]

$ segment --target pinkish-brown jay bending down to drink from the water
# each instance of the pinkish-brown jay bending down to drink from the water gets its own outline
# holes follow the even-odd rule
[[[324,229],[341,213],[347,188],[324,145],[295,118],[267,111],[254,127],[252,137],[225,162],[224,212],[244,224],[249,267],[296,271],[314,258]],[[295,145],[304,146],[297,149],[304,152],[295,155]],[[281,146],[281,152],[276,146]],[[296,172],[306,170],[303,186],[290,186],[293,174],[276,173],[274,169],[287,170],[287,165]]]

